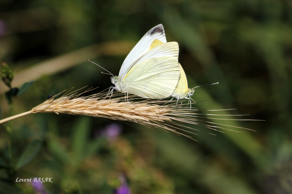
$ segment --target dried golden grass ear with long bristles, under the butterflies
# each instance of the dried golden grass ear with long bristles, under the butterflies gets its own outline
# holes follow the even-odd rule
[[[60,98],[56,98],[59,94],[55,95],[28,112],[0,120],[0,124],[31,113],[51,112],[56,114],[87,115],[119,121],[132,121],[146,126],[171,130],[178,134],[182,133],[179,133],[177,129],[187,131],[183,129],[183,127],[189,128],[185,126],[187,123],[204,126],[213,130],[217,130],[215,128],[225,129],[214,126],[217,123],[200,119],[202,115],[216,114],[197,113],[197,111],[202,110],[182,107],[180,103],[177,105],[176,101],[164,105],[167,101],[149,99],[141,101],[141,98],[137,98],[137,96],[129,96],[128,102],[124,98],[124,95],[119,92],[114,93],[111,97],[107,96],[107,93],[80,97],[81,94],[73,92],[67,95],[64,94]],[[192,133],[190,131],[187,132]],[[188,135],[185,136],[190,137]]]

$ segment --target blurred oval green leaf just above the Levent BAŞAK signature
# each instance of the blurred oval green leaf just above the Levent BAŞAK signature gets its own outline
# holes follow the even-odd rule
[[[34,156],[39,152],[39,149],[41,148],[41,141],[40,140],[35,140],[28,144],[24,151],[22,152],[22,155],[20,156],[15,169],[19,169],[20,167],[26,165],[29,163]]]

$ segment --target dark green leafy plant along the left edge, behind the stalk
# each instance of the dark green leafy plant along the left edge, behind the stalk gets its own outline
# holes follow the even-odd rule
[[[34,81],[25,82],[22,86],[12,87],[14,72],[7,63],[0,65],[0,76],[4,84],[9,87],[9,90],[5,92],[5,98],[9,106],[9,114],[12,115],[14,100],[25,93],[34,83]],[[1,107],[0,107],[1,116]],[[33,140],[23,150],[20,156],[16,156],[13,149],[14,135],[12,125],[8,122],[6,125],[0,125],[0,128],[4,128],[9,134],[9,143],[7,154],[4,154],[3,161],[0,162],[0,193],[20,193],[19,188],[15,185],[16,171],[31,161],[41,148],[41,140]],[[6,157],[5,157],[6,156]],[[15,160],[18,158],[18,160]]]

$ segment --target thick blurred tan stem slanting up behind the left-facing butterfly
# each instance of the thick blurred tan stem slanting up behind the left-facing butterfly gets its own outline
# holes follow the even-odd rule
[[[39,79],[42,75],[52,75],[62,70],[81,64],[88,59],[99,56],[127,55],[135,46],[132,42],[104,42],[93,44],[81,49],[59,55],[46,61],[37,63],[29,68],[16,72],[12,85],[20,86],[24,82]],[[4,93],[8,87],[0,82],[0,94]]]

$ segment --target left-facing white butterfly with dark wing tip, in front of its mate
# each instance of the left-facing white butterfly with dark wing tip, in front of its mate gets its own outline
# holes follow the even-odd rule
[[[154,40],[161,44],[150,48]],[[143,98],[166,98],[180,77],[178,43],[167,43],[161,24],[149,30],[124,60],[119,76],[111,78],[117,91]]]

